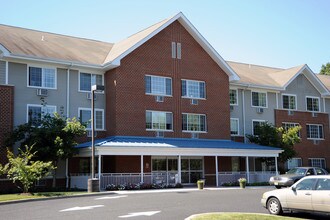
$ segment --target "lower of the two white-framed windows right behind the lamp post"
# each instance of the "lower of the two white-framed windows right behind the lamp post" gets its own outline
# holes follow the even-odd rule
[[[104,130],[104,110],[94,109],[95,130]],[[84,123],[86,130],[91,130],[92,110],[90,108],[78,108],[80,123]]]

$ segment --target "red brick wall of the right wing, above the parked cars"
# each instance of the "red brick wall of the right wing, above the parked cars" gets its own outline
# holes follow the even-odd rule
[[[302,127],[301,143],[295,145],[295,150],[297,157],[302,158],[303,166],[309,166],[308,158],[325,158],[327,162],[330,161],[329,114],[317,113],[313,117],[311,112],[294,111],[293,115],[289,115],[287,110],[275,110],[275,125],[282,126],[282,122],[299,123]],[[306,124],[323,125],[324,140],[317,143],[308,140]]]

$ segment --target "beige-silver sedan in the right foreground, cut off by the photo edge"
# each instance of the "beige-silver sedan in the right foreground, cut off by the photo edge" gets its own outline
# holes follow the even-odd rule
[[[330,214],[330,176],[307,176],[289,188],[265,192],[261,204],[273,215],[285,210]]]

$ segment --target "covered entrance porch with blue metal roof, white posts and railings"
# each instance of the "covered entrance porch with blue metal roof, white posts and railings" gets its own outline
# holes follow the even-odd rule
[[[87,188],[90,151],[86,143],[73,159],[70,166],[80,166],[70,169],[71,187]],[[100,189],[105,189],[109,184],[127,183],[189,185],[202,178],[210,186],[240,177],[250,183],[266,182],[277,173],[281,150],[227,140],[112,137],[98,142],[95,152]]]

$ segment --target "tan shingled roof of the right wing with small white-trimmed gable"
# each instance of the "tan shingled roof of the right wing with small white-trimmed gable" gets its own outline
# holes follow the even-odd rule
[[[316,77],[308,65],[283,69],[227,61],[229,66],[239,75],[240,80],[232,84],[273,90],[285,90],[286,87],[300,74],[314,85],[321,95],[329,93],[328,89]]]

